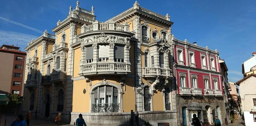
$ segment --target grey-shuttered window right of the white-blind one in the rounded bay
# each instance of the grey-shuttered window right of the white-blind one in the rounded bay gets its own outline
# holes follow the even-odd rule
[[[114,61],[124,62],[124,45],[114,46]]]

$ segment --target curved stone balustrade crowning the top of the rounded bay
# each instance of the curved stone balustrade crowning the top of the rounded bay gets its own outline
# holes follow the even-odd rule
[[[115,22],[108,22],[108,23],[99,23],[95,21],[92,25],[83,25],[81,27],[81,33],[84,32],[91,32],[91,31],[98,31],[98,30],[115,30],[115,31],[124,31],[129,32],[129,25],[126,23],[124,25],[115,24]]]

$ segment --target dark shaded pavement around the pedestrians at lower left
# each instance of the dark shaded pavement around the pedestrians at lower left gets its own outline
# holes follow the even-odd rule
[[[7,115],[6,119],[6,126],[10,126],[11,123],[16,119],[16,116],[14,115]],[[5,115],[2,115],[2,120],[0,126],[4,126],[4,121],[5,121]],[[29,122],[29,126],[56,126],[56,123],[51,120],[46,120],[46,119],[31,119]],[[72,126],[67,123],[62,123],[62,126]]]

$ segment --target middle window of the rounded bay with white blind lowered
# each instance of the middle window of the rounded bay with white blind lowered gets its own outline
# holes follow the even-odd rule
[[[109,57],[109,45],[99,45],[98,61],[108,62]]]

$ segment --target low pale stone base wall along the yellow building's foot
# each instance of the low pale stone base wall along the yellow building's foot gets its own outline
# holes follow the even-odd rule
[[[71,122],[74,124],[80,113],[71,112]],[[157,126],[158,122],[168,122],[177,126],[176,110],[170,111],[149,111],[131,113],[81,113],[87,126],[132,126],[148,123]]]

